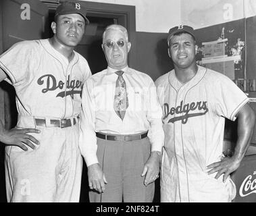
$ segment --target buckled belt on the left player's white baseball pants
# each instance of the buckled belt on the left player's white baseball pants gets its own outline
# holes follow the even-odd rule
[[[48,124],[46,119],[34,118],[34,121],[36,126],[67,128],[74,126],[77,123],[76,119],[78,119],[78,117],[72,117],[68,119],[49,119]]]

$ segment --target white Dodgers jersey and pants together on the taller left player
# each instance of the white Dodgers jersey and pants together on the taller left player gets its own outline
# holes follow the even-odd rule
[[[61,119],[81,111],[81,90],[91,70],[74,51],[69,62],[48,39],[17,43],[0,56],[0,67],[16,89],[18,128],[39,128],[34,149],[5,148],[8,202],[79,202],[82,157],[78,124],[35,126],[34,117]],[[26,181],[24,190],[24,180]]]

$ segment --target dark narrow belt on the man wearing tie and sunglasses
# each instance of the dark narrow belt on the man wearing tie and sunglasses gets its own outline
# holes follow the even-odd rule
[[[141,140],[147,137],[147,132],[144,134],[133,134],[133,135],[108,135],[108,134],[101,134],[96,132],[96,136],[103,140],[113,140],[113,141],[133,141],[133,140]]]

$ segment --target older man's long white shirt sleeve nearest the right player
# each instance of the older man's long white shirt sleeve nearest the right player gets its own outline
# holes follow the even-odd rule
[[[151,80],[149,85],[149,104],[147,111],[147,119],[150,123],[148,136],[151,141],[151,151],[161,151],[164,143],[163,123],[161,121],[162,116],[163,111],[159,105],[157,90],[153,80]]]

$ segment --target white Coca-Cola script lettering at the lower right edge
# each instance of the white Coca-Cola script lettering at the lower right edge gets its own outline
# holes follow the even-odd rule
[[[253,172],[253,175],[256,174],[256,171]],[[247,175],[245,180],[243,180],[240,189],[239,194],[240,196],[248,196],[249,194],[256,194],[256,178],[253,179],[253,175]]]

